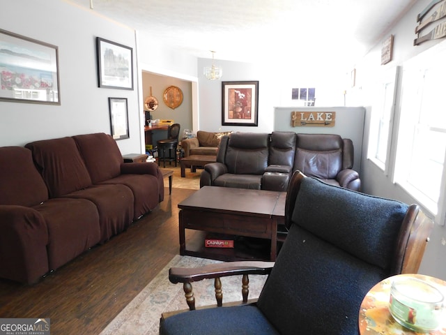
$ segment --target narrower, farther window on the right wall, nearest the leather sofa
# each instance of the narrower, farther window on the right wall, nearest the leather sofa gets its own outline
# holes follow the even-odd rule
[[[385,73],[371,107],[368,158],[387,174],[399,67]]]

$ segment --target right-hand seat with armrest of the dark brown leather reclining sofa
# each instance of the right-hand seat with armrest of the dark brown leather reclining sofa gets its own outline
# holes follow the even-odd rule
[[[297,134],[293,170],[328,184],[360,191],[353,168],[353,142],[332,134]]]

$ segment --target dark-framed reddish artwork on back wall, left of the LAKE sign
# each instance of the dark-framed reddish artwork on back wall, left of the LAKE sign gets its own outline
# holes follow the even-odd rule
[[[222,82],[222,126],[257,126],[259,82]]]

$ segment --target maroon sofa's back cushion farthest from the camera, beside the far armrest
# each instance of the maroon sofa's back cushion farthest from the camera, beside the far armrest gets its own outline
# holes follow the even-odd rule
[[[73,136],[79,152],[84,158],[93,184],[118,177],[124,162],[118,144],[112,136],[95,133]]]

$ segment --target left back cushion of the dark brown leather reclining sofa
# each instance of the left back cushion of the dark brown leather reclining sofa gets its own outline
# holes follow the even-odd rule
[[[263,174],[268,167],[267,133],[233,133],[229,137],[225,164],[229,173]]]

